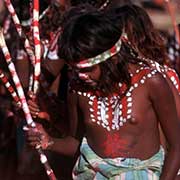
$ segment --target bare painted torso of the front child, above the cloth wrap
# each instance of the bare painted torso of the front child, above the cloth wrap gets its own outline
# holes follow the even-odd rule
[[[102,98],[77,92],[88,144],[99,156],[147,159],[159,150],[158,121],[146,87],[157,71],[146,68],[133,73],[133,88],[119,102],[117,94]]]

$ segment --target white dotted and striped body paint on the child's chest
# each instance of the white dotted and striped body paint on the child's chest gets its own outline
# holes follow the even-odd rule
[[[143,71],[144,69],[150,69],[149,67],[141,67],[139,70],[136,71],[136,74]],[[78,95],[87,97],[89,99],[88,104],[90,105],[90,118],[91,121],[94,123],[97,123],[99,126],[102,126],[107,131],[111,130],[119,130],[120,127],[122,127],[128,119],[131,119],[132,116],[132,106],[133,106],[133,98],[132,98],[132,92],[134,89],[138,88],[141,84],[144,84],[148,78],[153,77],[157,73],[157,70],[151,70],[149,73],[145,74],[141,79],[138,80],[138,82],[132,84],[130,89],[127,91],[125,98],[127,99],[127,105],[126,105],[126,116],[122,116],[123,112],[123,104],[120,101],[120,96],[112,96],[112,97],[96,97],[95,95],[92,95],[91,93],[82,93],[78,91]],[[132,76],[132,75],[131,75]],[[121,86],[121,84],[119,84]],[[94,115],[94,100],[97,99],[97,115],[95,117]],[[109,107],[113,109],[112,111],[112,124],[110,124],[109,120]]]

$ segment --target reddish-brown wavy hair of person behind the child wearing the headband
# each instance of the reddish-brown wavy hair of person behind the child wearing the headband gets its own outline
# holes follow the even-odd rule
[[[124,19],[125,32],[133,48],[142,56],[153,59],[160,64],[167,60],[165,41],[160,32],[155,29],[147,12],[136,5],[125,5],[110,10],[111,17]]]

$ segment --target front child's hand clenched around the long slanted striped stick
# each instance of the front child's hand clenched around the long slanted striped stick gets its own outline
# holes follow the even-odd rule
[[[52,138],[46,133],[42,125],[38,123],[36,123],[35,128],[25,126],[23,129],[27,131],[27,139],[30,146],[36,149],[42,148],[46,150],[54,144]]]

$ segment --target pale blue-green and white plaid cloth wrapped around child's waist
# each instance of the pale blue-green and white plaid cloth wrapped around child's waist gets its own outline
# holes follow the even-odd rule
[[[105,158],[93,152],[83,138],[73,179],[77,180],[158,180],[164,162],[164,149],[147,160],[136,158]]]

